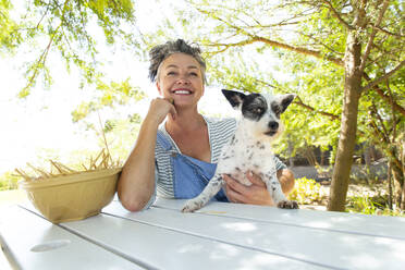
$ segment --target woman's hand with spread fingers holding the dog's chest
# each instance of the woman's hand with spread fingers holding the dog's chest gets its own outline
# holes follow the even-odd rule
[[[241,184],[226,174],[223,174],[222,177],[226,183],[225,192],[230,201],[261,206],[274,205],[265,182],[258,175],[251,172],[246,173],[247,180],[251,183],[250,186]]]

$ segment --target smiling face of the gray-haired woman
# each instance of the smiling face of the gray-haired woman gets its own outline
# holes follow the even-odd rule
[[[161,63],[157,87],[176,107],[196,106],[204,94],[201,68],[192,56],[174,53]]]

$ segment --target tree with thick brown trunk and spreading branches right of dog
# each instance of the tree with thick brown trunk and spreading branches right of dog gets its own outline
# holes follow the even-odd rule
[[[302,88],[300,99],[296,103],[316,112],[317,118],[322,115],[340,122],[328,209],[343,211],[355,144],[358,142],[356,135],[370,134],[369,128],[365,131],[369,120],[366,116],[367,111],[372,112],[372,103],[383,103],[384,108],[378,109],[378,112],[383,114],[383,120],[389,120],[386,108],[392,108],[392,115],[396,115],[392,122],[395,126],[393,130],[400,132],[400,126],[403,126],[405,109],[401,97],[404,96],[404,88],[398,87],[397,83],[395,88],[386,87],[401,81],[400,74],[404,73],[403,3],[388,0],[256,0],[232,3],[201,0],[188,3],[194,10],[180,10],[181,22],[185,28],[196,33],[195,36],[188,34],[188,38],[198,40],[208,49],[207,57],[214,62],[211,68],[214,68],[219,82],[242,86],[240,88],[250,91],[260,90],[266,85],[278,87],[277,79],[271,75],[254,69],[251,54],[244,54],[244,49],[247,48],[256,49],[261,62],[266,61],[269,51],[289,56],[290,59],[293,53],[293,61],[299,61],[303,58],[298,56],[304,56],[304,69],[308,65],[322,65],[322,70],[331,75],[330,78],[336,79],[329,79],[324,85],[319,82],[314,85],[339,89],[326,95],[326,101],[331,103],[333,99],[329,98],[339,93],[338,101],[342,100],[339,114],[334,109],[335,103],[329,111],[328,108],[322,110],[326,107],[317,107],[318,103],[311,102],[308,96],[306,99],[310,103],[303,101],[302,89],[309,83],[306,79],[298,82]],[[204,23],[196,14],[205,19]],[[243,64],[237,62],[237,57],[243,57],[243,64],[250,64],[250,70],[241,69]],[[303,62],[297,62],[300,63]],[[224,66],[226,64],[230,68]],[[295,70],[299,68],[295,66]],[[316,71],[318,70],[317,68]],[[332,74],[333,71],[341,74],[340,77],[336,78],[336,75]],[[299,77],[299,74],[293,76]],[[323,83],[328,81],[326,76],[320,77]],[[321,90],[322,94],[324,91]],[[361,124],[360,128],[358,124]],[[375,121],[375,124],[382,128],[381,121]],[[403,169],[398,170],[396,175],[398,186],[403,186]],[[401,192],[397,193],[397,202],[402,200],[400,194]]]

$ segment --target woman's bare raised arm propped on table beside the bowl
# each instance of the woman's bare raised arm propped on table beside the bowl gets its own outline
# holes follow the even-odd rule
[[[135,147],[126,160],[118,182],[121,204],[130,211],[139,211],[155,192],[155,146],[158,127],[165,115],[174,118],[175,109],[168,100],[157,98],[150,103]]]

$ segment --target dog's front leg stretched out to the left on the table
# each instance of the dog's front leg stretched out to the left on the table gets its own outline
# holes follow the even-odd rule
[[[193,212],[205,206],[223,186],[221,175],[216,174],[208,183],[206,188],[197,197],[189,199],[184,205],[182,212]]]

